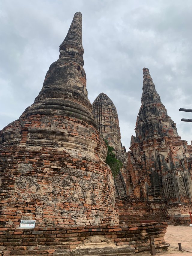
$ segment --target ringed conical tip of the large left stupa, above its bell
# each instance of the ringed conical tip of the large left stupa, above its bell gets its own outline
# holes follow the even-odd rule
[[[81,59],[83,64],[82,14],[80,12],[75,13],[69,31],[62,44],[59,46],[59,51],[59,57],[75,57],[75,59]],[[79,52],[79,54],[75,54],[74,52]],[[78,55],[80,55],[81,58],[79,58]]]

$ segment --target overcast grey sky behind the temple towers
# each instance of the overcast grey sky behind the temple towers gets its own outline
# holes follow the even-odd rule
[[[82,13],[84,68],[91,103],[106,93],[117,108],[122,144],[130,147],[149,68],[168,115],[190,144],[191,0],[1,0],[0,129],[18,119],[58,59],[75,12]]]

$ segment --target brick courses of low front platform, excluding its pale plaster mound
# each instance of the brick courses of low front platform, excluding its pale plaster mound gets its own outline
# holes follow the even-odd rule
[[[7,255],[72,255],[72,251],[91,236],[104,236],[115,245],[131,245],[135,252],[149,251],[149,236],[154,236],[157,251],[167,250],[164,240],[167,223],[128,226],[0,228],[0,251]],[[65,254],[64,254],[65,253]]]

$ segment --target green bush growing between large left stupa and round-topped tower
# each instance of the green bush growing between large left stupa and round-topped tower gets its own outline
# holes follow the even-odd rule
[[[109,146],[107,140],[105,140],[105,143],[106,143],[107,149],[108,149],[107,157],[106,157],[105,161],[106,161],[106,164],[108,164],[109,167],[111,168],[112,175],[115,178],[117,176],[117,174],[119,173],[119,171],[120,171],[121,167],[123,166],[123,164],[122,164],[121,161],[119,161],[115,157],[115,153],[113,152],[114,148]]]

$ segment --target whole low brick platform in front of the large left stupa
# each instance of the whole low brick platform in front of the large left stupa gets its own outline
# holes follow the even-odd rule
[[[166,222],[116,226],[0,228],[0,254],[7,255],[128,255],[167,250]]]

